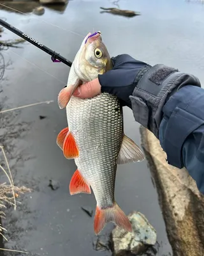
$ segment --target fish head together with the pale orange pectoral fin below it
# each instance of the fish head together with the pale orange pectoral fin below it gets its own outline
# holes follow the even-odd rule
[[[82,83],[92,81],[99,74],[104,74],[112,69],[110,55],[103,44],[101,33],[89,33],[85,36],[80,49],[78,50],[75,60],[71,66],[72,72],[75,73],[76,81],[63,88],[58,95],[59,108],[65,108],[71,99],[71,96]]]

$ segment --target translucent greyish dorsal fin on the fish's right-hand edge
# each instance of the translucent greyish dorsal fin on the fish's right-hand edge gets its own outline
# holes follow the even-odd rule
[[[117,164],[140,162],[143,159],[145,159],[145,156],[140,147],[128,136],[124,135],[119,156],[117,157]]]

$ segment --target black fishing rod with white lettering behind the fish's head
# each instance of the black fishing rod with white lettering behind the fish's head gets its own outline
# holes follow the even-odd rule
[[[59,53],[52,51],[50,48],[48,48],[47,46],[41,44],[40,42],[38,42],[37,40],[35,40],[34,38],[32,38],[31,36],[28,36],[27,34],[25,34],[24,32],[20,31],[19,29],[13,27],[12,25],[8,24],[7,22],[5,22],[4,20],[0,19],[0,24],[4,27],[9,29],[11,32],[15,33],[16,35],[24,38],[24,40],[26,40],[27,42],[35,45],[36,47],[38,47],[39,49],[41,49],[44,52],[47,52],[48,54],[50,54],[51,60],[53,62],[62,62],[66,65],[68,65],[69,67],[71,67],[72,62],[67,60],[66,58],[64,58],[63,56],[61,56]]]

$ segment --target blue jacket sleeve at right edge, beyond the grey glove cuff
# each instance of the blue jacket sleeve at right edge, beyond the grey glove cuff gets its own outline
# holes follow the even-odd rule
[[[159,141],[169,164],[186,167],[204,194],[204,90],[187,85],[163,107]]]

